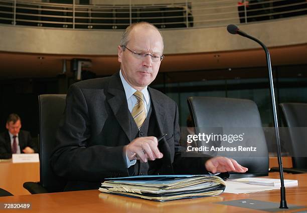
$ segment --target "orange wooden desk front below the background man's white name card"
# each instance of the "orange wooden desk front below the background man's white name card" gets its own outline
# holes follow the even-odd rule
[[[30,194],[23,187],[24,182],[27,181],[40,181],[39,162],[0,162],[0,188],[10,191],[14,195]]]

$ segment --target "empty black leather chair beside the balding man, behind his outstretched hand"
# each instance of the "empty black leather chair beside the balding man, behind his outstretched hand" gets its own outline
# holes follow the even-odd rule
[[[214,133],[227,135],[244,133],[244,139],[237,142],[237,145],[257,147],[256,151],[250,152],[206,152],[206,154],[210,155],[234,158],[241,165],[248,167],[246,173],[230,173],[231,178],[265,176],[268,174],[269,157],[267,145],[255,102],[246,99],[199,96],[189,97],[188,105],[195,123],[196,134]],[[214,141],[214,143],[216,145],[217,141]],[[213,141],[210,141],[209,144],[213,144]],[[238,147],[235,142],[220,141],[220,145]]]

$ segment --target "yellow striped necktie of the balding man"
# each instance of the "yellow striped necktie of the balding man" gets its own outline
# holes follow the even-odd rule
[[[131,114],[132,114],[132,117],[133,117],[138,129],[140,129],[140,127],[142,126],[142,124],[143,124],[143,122],[146,118],[143,93],[140,92],[140,91],[136,91],[136,92],[134,92],[133,95],[136,97],[137,102],[135,103]]]

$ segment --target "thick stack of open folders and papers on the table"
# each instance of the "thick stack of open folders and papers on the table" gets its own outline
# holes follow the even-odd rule
[[[218,195],[226,183],[216,175],[142,175],[107,178],[99,191],[167,201]]]

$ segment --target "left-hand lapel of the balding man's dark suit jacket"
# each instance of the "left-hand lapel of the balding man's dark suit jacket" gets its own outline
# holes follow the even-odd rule
[[[127,99],[125,95],[124,88],[122,86],[119,72],[111,76],[108,86],[108,92],[111,94],[111,97],[108,98],[108,103],[116,117],[121,128],[127,135],[128,139],[131,141],[131,132],[130,132],[130,119],[129,119],[129,110]]]

